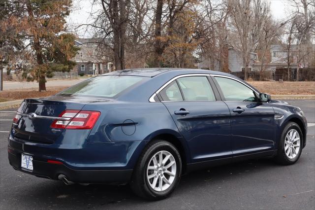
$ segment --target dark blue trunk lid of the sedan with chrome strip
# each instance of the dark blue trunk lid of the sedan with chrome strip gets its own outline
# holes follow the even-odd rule
[[[51,128],[54,120],[64,110],[82,110],[84,105],[95,99],[49,97],[44,99],[26,99],[18,109],[16,122],[12,129],[14,137],[41,143],[53,143],[64,129]]]

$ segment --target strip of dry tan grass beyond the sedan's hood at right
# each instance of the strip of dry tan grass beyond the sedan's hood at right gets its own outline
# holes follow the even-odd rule
[[[315,95],[315,82],[248,81],[262,93],[271,95]]]

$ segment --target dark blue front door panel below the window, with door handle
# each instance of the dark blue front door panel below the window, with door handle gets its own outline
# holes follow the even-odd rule
[[[246,154],[275,147],[275,117],[271,104],[225,102],[231,110],[233,154]],[[232,110],[240,107],[241,113]]]

